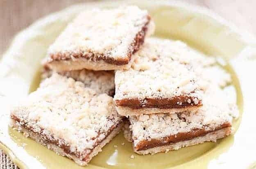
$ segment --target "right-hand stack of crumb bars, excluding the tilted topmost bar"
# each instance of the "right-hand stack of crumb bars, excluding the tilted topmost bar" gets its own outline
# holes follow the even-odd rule
[[[148,38],[129,70],[117,70],[114,100],[128,116],[125,138],[137,154],[168,152],[231,134],[236,101],[230,75],[179,41]]]

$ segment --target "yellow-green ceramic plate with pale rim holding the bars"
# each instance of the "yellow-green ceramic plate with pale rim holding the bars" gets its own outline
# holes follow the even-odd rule
[[[240,117],[235,133],[218,140],[154,156],[139,156],[119,134],[85,168],[88,169],[242,169],[256,166],[256,40],[238,31],[206,9],[167,1],[115,1],[79,4],[49,15],[19,33],[0,62],[0,148],[21,169],[83,168],[58,156],[8,127],[9,107],[36,89],[40,61],[48,46],[68,22],[82,10],[136,4],[147,9],[156,22],[156,36],[179,39],[207,55],[218,57],[233,79],[229,90],[236,94]],[[125,143],[125,145],[121,145]],[[114,145],[118,145],[115,149]],[[130,156],[134,155],[134,159]]]

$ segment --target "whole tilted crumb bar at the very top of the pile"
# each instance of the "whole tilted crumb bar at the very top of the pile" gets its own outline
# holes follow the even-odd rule
[[[86,10],[50,46],[45,64],[55,71],[129,68],[152,33],[154,23],[138,7]]]

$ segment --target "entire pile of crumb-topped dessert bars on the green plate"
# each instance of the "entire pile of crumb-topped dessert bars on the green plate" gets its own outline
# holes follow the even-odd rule
[[[87,165],[124,129],[138,154],[216,141],[238,109],[230,75],[179,41],[152,38],[138,7],[83,11],[49,47],[42,82],[11,126]]]

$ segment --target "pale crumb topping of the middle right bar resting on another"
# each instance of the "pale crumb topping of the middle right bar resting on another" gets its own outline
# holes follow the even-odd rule
[[[199,103],[201,90],[193,68],[192,50],[179,41],[149,38],[129,70],[117,70],[115,100],[193,97]],[[192,102],[190,100],[190,103]]]

